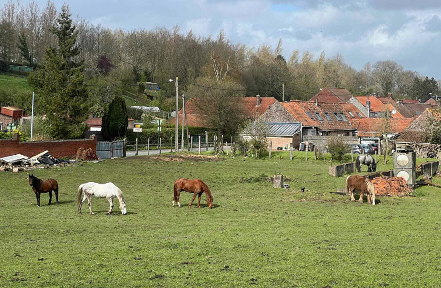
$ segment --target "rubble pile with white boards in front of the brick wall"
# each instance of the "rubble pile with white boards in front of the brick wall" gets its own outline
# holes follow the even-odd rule
[[[0,171],[19,172],[30,171],[33,168],[49,168],[49,166],[65,165],[71,163],[69,160],[60,160],[44,151],[31,158],[22,154],[16,154],[0,158]]]

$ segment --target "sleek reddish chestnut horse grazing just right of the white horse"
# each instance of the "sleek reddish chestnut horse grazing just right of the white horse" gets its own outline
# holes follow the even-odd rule
[[[181,204],[179,203],[179,195],[181,194],[181,191],[193,193],[193,198],[190,203],[188,203],[188,208],[192,206],[193,201],[195,201],[196,195],[199,196],[199,199],[197,200],[197,207],[200,208],[200,197],[202,196],[202,193],[205,193],[207,196],[207,204],[208,208],[211,208],[213,206],[213,197],[211,196],[210,189],[208,188],[207,184],[205,184],[200,179],[190,180],[190,179],[177,179],[174,181],[174,198],[172,205],[174,206],[174,203],[177,202],[178,206],[181,207]]]

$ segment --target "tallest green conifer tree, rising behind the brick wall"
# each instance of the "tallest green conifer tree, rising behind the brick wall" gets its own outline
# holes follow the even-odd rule
[[[69,7],[63,5],[53,33],[58,47],[46,49],[40,69],[32,75],[38,111],[46,114],[50,134],[56,139],[82,137],[89,114],[82,62],[76,61],[79,47]]]

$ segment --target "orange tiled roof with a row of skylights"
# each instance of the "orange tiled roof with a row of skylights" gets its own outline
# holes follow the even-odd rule
[[[346,119],[358,117],[357,112],[363,115],[354,104],[350,103],[324,102],[319,103],[316,106],[316,103],[313,101],[290,101],[281,102],[280,104],[282,104],[282,106],[291,113],[297,121],[303,122],[303,126],[317,127],[320,130],[355,130],[349,120],[337,120],[334,112],[336,112],[339,117],[341,117],[340,113],[343,113]],[[348,111],[351,111],[354,117],[352,117]],[[311,113],[314,120],[310,118],[307,112]],[[319,120],[316,112],[319,113],[322,121]],[[327,112],[331,121],[327,119],[325,112]]]

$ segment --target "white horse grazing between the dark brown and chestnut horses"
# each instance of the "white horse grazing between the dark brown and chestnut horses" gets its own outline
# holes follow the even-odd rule
[[[81,200],[81,194],[84,192],[83,200]],[[106,215],[112,214],[113,210],[113,198],[117,197],[120,202],[120,210],[123,215],[127,214],[127,208],[124,200],[124,195],[121,190],[116,187],[113,183],[99,184],[95,182],[87,182],[81,184],[78,187],[78,213],[81,213],[81,206],[83,202],[87,199],[89,204],[90,214],[94,214],[92,212],[92,208],[90,207],[90,202],[92,196],[96,196],[98,198],[107,198],[107,201],[110,203],[110,210],[107,211]]]

